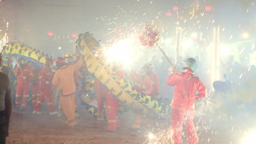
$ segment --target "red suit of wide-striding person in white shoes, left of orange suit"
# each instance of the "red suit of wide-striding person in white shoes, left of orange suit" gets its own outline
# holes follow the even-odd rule
[[[34,111],[39,111],[40,108],[43,106],[43,102],[46,101],[49,111],[54,112],[54,105],[52,102],[52,95],[51,95],[51,81],[52,81],[52,70],[48,66],[42,68],[38,74],[39,77],[39,87],[40,87],[40,96],[38,98],[36,107]],[[46,82],[50,82],[47,84]]]

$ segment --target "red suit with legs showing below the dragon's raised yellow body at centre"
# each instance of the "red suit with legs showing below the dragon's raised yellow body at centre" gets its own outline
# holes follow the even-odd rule
[[[118,76],[122,77],[124,79],[124,72],[121,70],[117,71]],[[111,92],[107,94],[106,98],[106,105],[107,105],[107,113],[109,115],[109,120],[108,120],[108,127],[107,129],[115,131],[116,127],[120,127],[120,121],[117,117],[118,113],[118,104],[119,104],[119,99],[114,96]]]

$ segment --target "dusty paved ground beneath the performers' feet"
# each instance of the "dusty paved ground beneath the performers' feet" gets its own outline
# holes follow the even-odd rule
[[[119,114],[122,127],[116,132],[106,132],[107,123],[97,124],[97,120],[82,106],[79,107],[82,116],[77,118],[74,127],[65,124],[64,116],[49,116],[45,107],[42,109],[44,114],[40,116],[33,115],[32,111],[31,107],[25,112],[13,110],[7,144],[143,144],[147,140],[147,131],[152,131],[152,128],[131,131],[133,113]],[[240,141],[255,126],[255,119],[249,116],[245,113],[238,116],[197,114],[195,125],[198,125],[199,144],[245,144]],[[167,128],[170,125],[168,121],[159,120],[155,132]],[[186,144],[185,138],[183,144]]]

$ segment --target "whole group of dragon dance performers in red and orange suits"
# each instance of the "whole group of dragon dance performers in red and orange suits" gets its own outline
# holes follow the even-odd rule
[[[14,74],[17,76],[15,107],[21,111],[25,111],[27,101],[31,90],[31,104],[34,107],[33,114],[41,115],[40,108],[46,101],[49,108],[49,114],[58,116],[62,115],[64,111],[67,117],[66,124],[68,126],[75,126],[76,114],[76,90],[81,91],[79,85],[79,75],[85,69],[85,61],[82,56],[77,56],[74,62],[73,56],[67,53],[64,58],[58,57],[55,61],[47,59],[45,67],[42,69],[34,67],[33,61],[25,61],[22,57],[18,58],[18,64],[14,66]],[[171,67],[171,73],[167,79],[167,85],[174,86],[172,107],[172,121],[173,128],[172,139],[176,144],[181,144],[182,123],[185,119],[187,137],[189,143],[197,144],[198,138],[193,124],[193,117],[195,114],[194,102],[198,98],[205,96],[205,86],[196,77],[193,72],[196,70],[197,63],[195,59],[188,58],[185,60],[182,72],[179,72],[175,66]],[[116,74],[125,80],[125,73],[122,67],[115,67]],[[131,71],[129,74],[132,78],[132,83],[137,92],[152,96],[154,99],[161,101],[159,96],[159,79],[153,72],[153,65],[145,64],[140,68],[139,73]],[[55,99],[52,97],[52,87],[60,88],[60,103],[59,110],[54,108]],[[121,126],[118,119],[118,105],[119,99],[113,95],[99,80],[94,80],[94,89],[97,95],[97,120],[101,123],[104,120],[108,121],[107,131],[116,131],[116,128]],[[196,95],[198,91],[198,95]],[[172,94],[170,94],[172,95]],[[103,107],[106,105],[107,114],[104,116]],[[136,131],[140,129],[141,124],[154,125],[155,120],[142,116],[136,113],[132,129]]]

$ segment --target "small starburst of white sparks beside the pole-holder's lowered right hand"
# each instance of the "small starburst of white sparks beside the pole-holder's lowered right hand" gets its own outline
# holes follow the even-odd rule
[[[200,114],[203,111],[207,111],[210,110],[211,113],[213,113],[213,107],[216,107],[217,105],[213,104],[213,101],[217,101],[217,100],[213,100],[213,95],[215,93],[213,92],[213,90],[211,89],[210,91],[205,92],[205,97],[200,99],[199,103],[196,105],[200,105],[199,109],[200,109]]]

